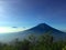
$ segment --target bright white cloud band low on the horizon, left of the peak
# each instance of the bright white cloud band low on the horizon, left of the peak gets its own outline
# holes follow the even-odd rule
[[[0,33],[9,33],[9,32],[19,32],[25,29],[22,28],[10,28],[10,27],[0,27]]]

